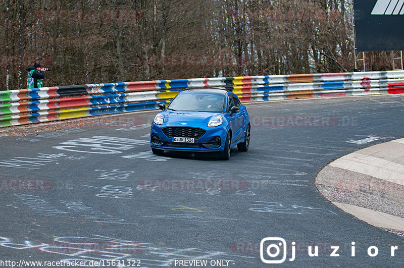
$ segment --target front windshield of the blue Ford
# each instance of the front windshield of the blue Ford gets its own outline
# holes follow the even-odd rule
[[[177,95],[168,106],[168,110],[220,113],[224,108],[224,95],[187,92]]]

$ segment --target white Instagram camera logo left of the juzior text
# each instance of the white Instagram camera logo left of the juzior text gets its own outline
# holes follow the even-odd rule
[[[264,257],[264,253],[266,256]],[[286,260],[286,241],[280,237],[266,237],[260,243],[260,257],[264,263],[282,263]]]

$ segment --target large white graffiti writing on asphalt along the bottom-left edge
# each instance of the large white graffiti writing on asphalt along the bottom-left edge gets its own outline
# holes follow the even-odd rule
[[[193,248],[158,247],[150,243],[122,240],[102,235],[59,236],[46,243],[15,240],[0,236],[0,246],[15,250],[34,249],[37,253],[58,254],[61,261],[74,263],[83,260],[140,260],[143,267],[172,266],[175,259],[227,259],[230,263],[251,265],[255,256],[229,254]],[[126,266],[121,266],[126,267]]]

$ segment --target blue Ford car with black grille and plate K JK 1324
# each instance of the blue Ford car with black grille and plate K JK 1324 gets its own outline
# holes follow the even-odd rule
[[[150,146],[155,154],[164,150],[218,152],[230,158],[230,148],[247,151],[250,120],[237,95],[224,89],[200,88],[181,91],[153,120]]]

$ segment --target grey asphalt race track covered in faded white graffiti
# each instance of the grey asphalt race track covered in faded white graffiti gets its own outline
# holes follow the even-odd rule
[[[404,95],[246,107],[251,145],[234,147],[228,161],[153,155],[149,123],[158,111],[0,133],[0,259],[267,267],[260,242],[272,237],[286,244],[276,254],[279,241],[269,239],[263,256],[286,257],[279,265],[402,266],[403,237],[340,211],[314,180],[342,155],[403,138]],[[375,139],[349,142],[366,137]],[[309,246],[318,246],[318,256],[309,256]],[[369,247],[378,254],[371,257]]]

